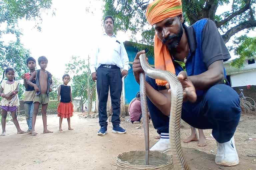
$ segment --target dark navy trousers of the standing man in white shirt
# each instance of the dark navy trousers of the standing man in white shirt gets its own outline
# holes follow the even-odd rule
[[[96,70],[97,74],[97,92],[99,99],[99,124],[101,127],[108,126],[107,116],[107,100],[108,91],[110,88],[110,97],[112,104],[112,119],[113,127],[120,124],[120,98],[122,93],[122,73],[120,68],[105,68],[99,67]]]

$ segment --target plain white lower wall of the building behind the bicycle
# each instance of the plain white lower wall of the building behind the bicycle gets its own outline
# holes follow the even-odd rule
[[[232,87],[256,85],[256,70],[230,76]]]

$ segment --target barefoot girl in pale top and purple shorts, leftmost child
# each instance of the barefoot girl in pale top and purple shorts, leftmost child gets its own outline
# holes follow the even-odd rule
[[[0,136],[5,136],[5,124],[6,124],[6,117],[7,112],[11,112],[13,123],[17,128],[17,134],[26,133],[25,131],[20,129],[16,110],[17,106],[20,105],[19,103],[19,82],[15,81],[15,71],[13,68],[7,68],[5,71],[5,76],[7,77],[6,82],[2,82],[1,88],[0,88],[0,95],[2,97],[1,100],[1,108],[2,108],[2,134]]]

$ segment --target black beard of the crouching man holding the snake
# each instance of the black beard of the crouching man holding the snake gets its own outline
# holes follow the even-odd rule
[[[183,35],[183,29],[182,29],[182,24],[180,22],[178,34],[168,36],[168,37],[164,38],[162,42],[164,45],[166,45],[168,47],[169,50],[173,51],[173,50],[175,50],[175,48],[177,48],[179,46],[179,42],[182,38],[182,35]],[[168,43],[168,40],[172,40],[172,41],[170,43]]]

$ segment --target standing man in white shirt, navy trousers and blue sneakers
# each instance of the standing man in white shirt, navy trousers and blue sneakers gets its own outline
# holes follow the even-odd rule
[[[120,98],[122,93],[122,77],[126,77],[129,65],[129,58],[124,44],[113,33],[114,19],[107,16],[104,19],[105,33],[99,39],[95,54],[91,56],[90,70],[92,79],[97,80],[97,92],[99,99],[99,124],[98,135],[105,135],[107,132],[107,100],[110,88],[111,104],[113,109],[112,125],[113,133],[126,133],[120,124]],[[121,72],[120,69],[123,69]]]

